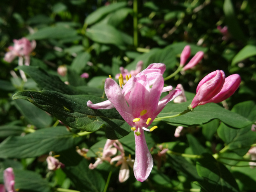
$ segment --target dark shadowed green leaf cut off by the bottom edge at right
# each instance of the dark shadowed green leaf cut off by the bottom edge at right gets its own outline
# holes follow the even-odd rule
[[[199,181],[201,192],[239,192],[232,174],[209,154],[197,160],[197,173],[204,178]]]

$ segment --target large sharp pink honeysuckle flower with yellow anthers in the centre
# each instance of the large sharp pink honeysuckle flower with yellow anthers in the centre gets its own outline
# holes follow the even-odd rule
[[[93,109],[111,109],[121,114],[123,119],[131,126],[135,134],[135,162],[133,171],[138,181],[145,181],[153,167],[153,158],[147,147],[144,130],[152,131],[156,126],[147,129],[166,104],[181,94],[180,90],[172,90],[171,86],[164,88],[163,73],[166,69],[163,63],[150,64],[147,69],[136,76],[128,77],[127,83],[119,81],[120,86],[111,78],[105,82],[105,93],[108,100],[92,104],[89,100],[88,107]],[[122,77],[122,76],[121,76]],[[152,86],[152,87],[151,87]],[[123,88],[123,89],[121,89]],[[162,92],[172,90],[162,98]]]

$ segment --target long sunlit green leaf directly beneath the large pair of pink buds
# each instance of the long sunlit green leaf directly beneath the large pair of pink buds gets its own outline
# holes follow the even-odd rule
[[[164,109],[160,112],[158,117],[179,114],[186,110],[189,104],[191,104],[191,100],[176,104],[168,103],[166,107],[164,107]],[[228,111],[215,103],[208,103],[198,106],[194,109],[194,111],[188,112],[178,117],[163,119],[162,121],[171,123],[174,126],[198,126],[208,123],[213,119],[219,119],[220,121],[223,121],[223,123],[234,128],[243,128],[245,126],[251,125],[252,123],[247,118],[232,111]]]

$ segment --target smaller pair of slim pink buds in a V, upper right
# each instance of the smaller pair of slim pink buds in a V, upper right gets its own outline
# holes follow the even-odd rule
[[[190,46],[186,45],[180,55],[180,66],[184,66],[185,62],[190,57],[190,53],[191,53]],[[186,64],[182,70],[186,71],[188,69],[193,68],[203,59],[203,57],[204,57],[204,52],[202,52],[202,51],[197,52],[196,55],[194,55],[194,57],[192,57],[192,59],[190,59],[188,64]]]

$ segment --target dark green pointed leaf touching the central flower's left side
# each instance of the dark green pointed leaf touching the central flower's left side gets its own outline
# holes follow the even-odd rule
[[[119,139],[131,131],[130,126],[123,120],[116,109],[95,110],[87,106],[88,100],[93,103],[104,101],[98,97],[64,95],[55,91],[43,90],[17,92],[12,98],[14,100],[28,100],[71,128],[85,131],[105,128],[106,136],[109,139]]]

